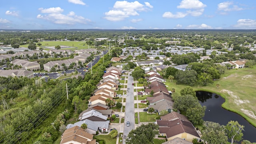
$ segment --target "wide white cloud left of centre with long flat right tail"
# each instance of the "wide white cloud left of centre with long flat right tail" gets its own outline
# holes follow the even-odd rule
[[[49,14],[47,15],[38,14],[37,18],[48,20],[55,24],[69,24],[69,25],[74,25],[76,23],[87,24],[87,22],[91,21],[82,16],[77,16],[75,12],[72,12],[72,11],[69,12],[67,15],[61,14],[61,12],[63,12],[64,10],[61,9],[60,7],[47,8],[47,9],[40,8],[39,10],[41,10],[42,13],[49,13]]]

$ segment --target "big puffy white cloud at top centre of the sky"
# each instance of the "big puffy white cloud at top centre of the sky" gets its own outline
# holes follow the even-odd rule
[[[110,21],[120,21],[130,16],[139,16],[138,12],[148,11],[153,6],[149,2],[145,2],[145,5],[140,4],[138,1],[127,2],[127,1],[116,1],[113,9],[105,12],[105,19]]]

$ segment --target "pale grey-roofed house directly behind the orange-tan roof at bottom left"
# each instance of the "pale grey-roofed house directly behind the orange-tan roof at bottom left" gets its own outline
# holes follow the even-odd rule
[[[92,120],[82,120],[79,122],[76,122],[74,124],[68,124],[66,126],[66,129],[73,128],[74,126],[81,126],[82,124],[87,124],[86,132],[89,134],[96,134],[96,132],[99,130],[101,132],[107,132],[109,127],[109,120],[106,121],[92,121]]]

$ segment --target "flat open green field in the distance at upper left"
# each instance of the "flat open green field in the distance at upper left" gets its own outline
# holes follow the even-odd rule
[[[74,42],[74,41],[45,41],[45,42],[38,42],[42,45],[40,47],[44,48],[45,46],[70,46],[71,48],[65,48],[68,50],[81,50],[88,48],[88,45],[85,42]],[[38,44],[36,43],[36,44]],[[37,46],[37,45],[36,45]],[[20,47],[28,47],[28,44],[21,45]],[[89,48],[93,48],[93,46],[89,46]],[[45,50],[49,50],[45,48]]]

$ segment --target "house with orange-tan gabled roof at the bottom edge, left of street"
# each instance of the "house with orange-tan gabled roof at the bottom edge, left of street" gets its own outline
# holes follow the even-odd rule
[[[74,126],[64,131],[60,144],[96,144],[96,139],[81,127]]]

